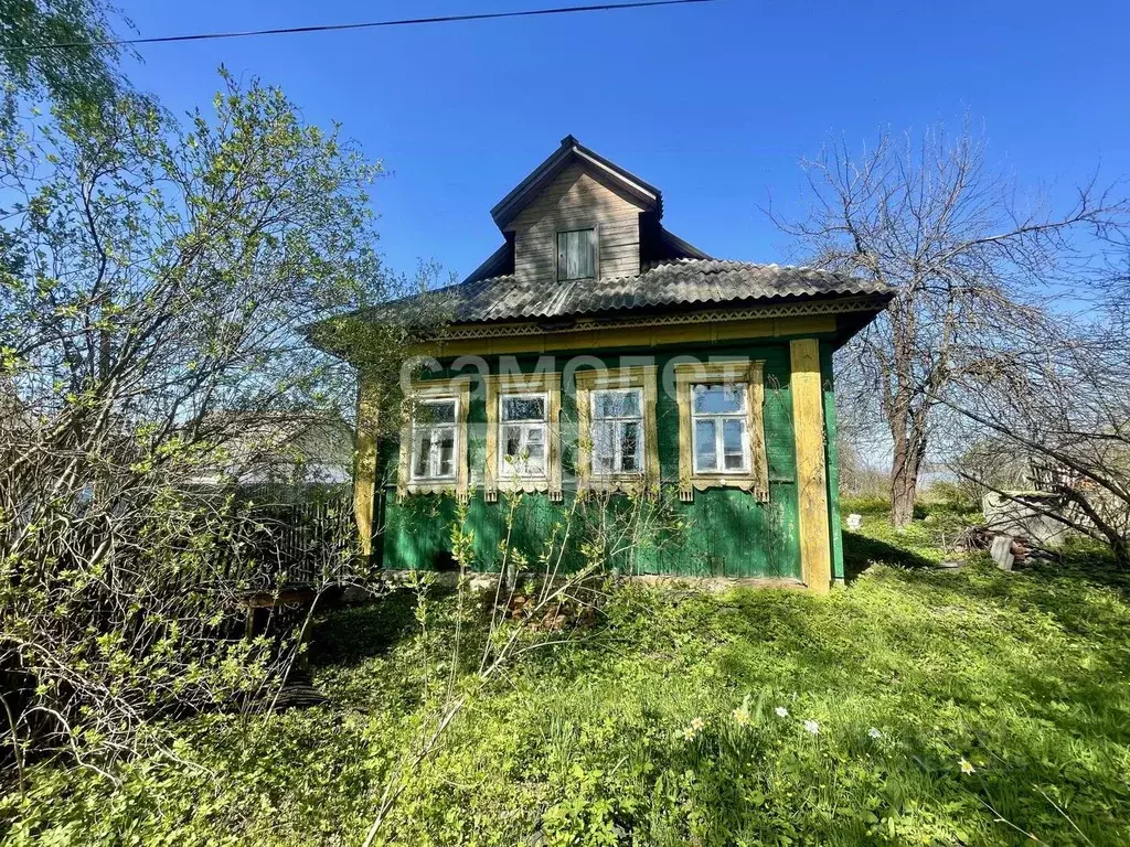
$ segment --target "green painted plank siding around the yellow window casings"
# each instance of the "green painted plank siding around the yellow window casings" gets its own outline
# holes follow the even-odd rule
[[[664,574],[673,576],[729,576],[800,578],[800,548],[797,521],[796,448],[792,428],[792,399],[789,390],[788,342],[764,346],[711,347],[657,353],[653,350],[616,351],[602,355],[599,360],[608,367],[628,364],[620,360],[627,355],[653,356],[659,373],[672,356],[746,356],[765,360],[765,442],[770,471],[770,501],[756,503],[750,495],[736,489],[695,491],[693,503],[680,503],[678,481],[678,408],[673,392],[669,395],[662,384],[655,409],[659,435],[659,455],[663,508],[670,510],[680,529],[666,531],[661,536],[645,539],[634,549],[623,551],[614,565],[632,573]],[[570,357],[557,359],[564,368]],[[597,360],[591,357],[590,361]],[[534,358],[520,358],[523,370],[530,370]],[[489,360],[492,370],[497,368]],[[450,366],[450,363],[449,363]],[[444,372],[437,377],[470,372]],[[662,376],[660,377],[662,378]],[[471,496],[468,503],[467,529],[475,533],[477,569],[495,570],[498,567],[499,542],[505,538],[510,500],[501,495],[497,503],[483,498],[481,477],[485,456],[486,409],[483,393],[472,383],[472,400],[468,414],[468,456],[471,470]],[[826,402],[832,402],[831,388]],[[572,386],[566,385],[562,396],[562,452],[564,503],[550,503],[546,495],[523,495],[515,512],[512,548],[520,550],[532,565],[546,550],[546,540],[556,531],[571,533],[567,547],[573,560],[563,562],[566,568],[580,565],[575,543],[584,535],[586,522],[598,519],[591,500],[574,503],[573,480],[576,461],[576,407]],[[397,446],[386,445],[384,466],[397,468]],[[450,565],[445,551],[450,550],[451,524],[455,519],[455,504],[450,497],[409,496],[399,503],[394,480],[389,480],[384,514],[383,565],[394,569],[428,569]],[[478,484],[477,484],[478,483]],[[626,498],[616,498],[624,503]],[[572,517],[570,517],[572,515]],[[838,514],[836,514],[838,519]],[[838,525],[838,523],[836,524]],[[838,538],[838,534],[836,535]],[[838,550],[838,544],[837,548]],[[837,561],[842,556],[837,555]],[[840,575],[842,566],[836,574]]]

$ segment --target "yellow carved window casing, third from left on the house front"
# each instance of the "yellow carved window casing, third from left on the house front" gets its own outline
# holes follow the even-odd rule
[[[659,488],[653,365],[576,375],[577,489]]]

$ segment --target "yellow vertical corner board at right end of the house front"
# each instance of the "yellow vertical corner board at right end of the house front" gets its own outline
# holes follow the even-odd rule
[[[797,489],[800,523],[800,568],[815,592],[832,587],[828,534],[828,489],[824,464],[824,388],[820,348],[816,339],[789,343],[792,360],[792,414],[797,439]]]

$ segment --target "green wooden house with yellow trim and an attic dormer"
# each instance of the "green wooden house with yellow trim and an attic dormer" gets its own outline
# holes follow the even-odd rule
[[[661,538],[617,567],[842,579],[832,355],[890,291],[713,259],[664,229],[659,189],[572,136],[490,213],[504,244],[432,295],[446,318],[420,339],[399,440],[366,431],[379,386],[362,378],[355,505],[372,556],[450,566],[462,504],[476,568],[497,568],[506,539],[536,564],[579,504],[652,501]]]

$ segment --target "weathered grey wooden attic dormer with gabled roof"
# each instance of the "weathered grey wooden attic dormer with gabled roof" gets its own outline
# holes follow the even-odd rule
[[[640,273],[641,234],[658,225],[662,197],[567,136],[490,213],[519,281],[611,279]]]

